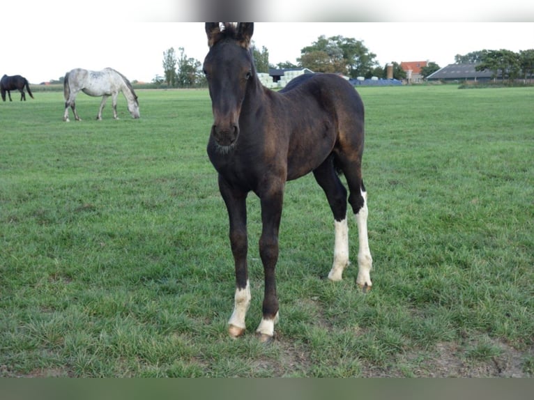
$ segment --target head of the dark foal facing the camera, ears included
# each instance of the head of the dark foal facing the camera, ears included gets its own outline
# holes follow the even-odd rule
[[[204,59],[204,74],[213,109],[211,134],[224,148],[234,145],[238,138],[241,106],[247,86],[256,73],[249,50],[253,31],[253,22],[225,23],[224,26],[219,22],[206,22],[210,49]]]

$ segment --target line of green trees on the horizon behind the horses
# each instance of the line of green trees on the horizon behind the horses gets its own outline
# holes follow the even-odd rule
[[[314,72],[335,72],[350,78],[379,77],[386,78],[387,66],[380,66],[376,54],[371,52],[362,40],[343,36],[319,36],[312,45],[300,50],[297,63],[285,61],[273,65],[269,63],[269,52],[266,47],[259,49],[252,43],[252,52],[257,72],[269,72],[269,68],[308,68]],[[176,54],[174,47],[163,52],[164,76],[156,75],[153,83],[177,88],[197,88],[206,86],[206,78],[201,70],[201,62],[189,58],[179,47]],[[531,79],[534,71],[534,49],[521,50],[519,53],[510,50],[480,50],[465,55],[457,54],[456,63],[477,63],[478,70],[494,71],[494,76],[504,79]],[[405,79],[406,72],[399,63],[393,61],[393,77]],[[423,78],[441,67],[434,62],[422,68]]]

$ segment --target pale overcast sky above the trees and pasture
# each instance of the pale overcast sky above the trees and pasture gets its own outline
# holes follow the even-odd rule
[[[243,0],[234,0],[239,1]],[[272,1],[270,4],[284,3]],[[386,0],[376,1],[381,4]],[[508,6],[513,6],[514,1],[520,0],[508,0]],[[204,22],[169,22],[181,19],[177,17],[177,0],[92,0],[93,7],[88,10],[70,6],[70,2],[63,0],[19,0],[6,5],[24,6],[25,2],[31,7],[24,17],[2,22],[0,75],[23,75],[29,82],[38,84],[59,79],[73,68],[112,67],[130,80],[151,82],[156,75],[163,75],[163,52],[167,49],[173,47],[178,55],[179,48],[183,47],[188,58],[201,62],[208,52]],[[291,11],[293,15],[300,15],[294,9],[297,5],[294,1],[285,3],[291,4],[286,7],[288,14]],[[129,7],[127,13],[121,10],[125,5]],[[107,13],[99,17],[104,7]],[[269,62],[273,65],[284,61],[296,63],[300,49],[312,45],[321,35],[327,38],[340,35],[362,40],[367,49],[376,54],[381,66],[392,61],[432,61],[444,67],[454,63],[456,54],[482,49],[514,52],[533,49],[534,22],[517,22],[528,20],[528,15],[534,20],[531,12],[534,7],[525,7],[528,7],[528,13],[524,14],[527,17],[521,18],[521,13],[515,17],[508,15],[501,18],[505,22],[493,22],[498,18],[492,18],[491,13],[473,21],[461,18],[453,21],[452,16],[434,20],[412,16],[403,21],[402,15],[395,21],[391,12],[383,18],[385,22],[257,22],[252,40],[260,49],[268,49]],[[320,11],[316,12],[316,17],[321,16]],[[3,15],[9,13],[10,10],[3,10]],[[186,16],[198,14],[190,10]],[[365,9],[364,18],[360,20],[379,20],[378,14],[379,10]],[[277,20],[289,18],[286,13],[268,16],[277,17]],[[314,19],[313,15],[305,16]],[[323,16],[325,20],[336,17]],[[337,13],[337,20],[348,17],[350,13],[343,18]],[[72,22],[68,22],[69,18]]]

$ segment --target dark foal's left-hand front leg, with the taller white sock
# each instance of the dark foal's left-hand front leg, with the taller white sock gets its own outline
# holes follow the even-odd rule
[[[239,337],[245,333],[245,317],[251,299],[247,275],[247,193],[232,189],[221,176],[219,189],[228,210],[230,245],[236,268],[234,312],[228,321],[228,332],[231,337]]]

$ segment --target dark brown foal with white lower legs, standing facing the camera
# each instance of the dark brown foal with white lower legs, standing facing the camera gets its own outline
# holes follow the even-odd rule
[[[278,229],[287,180],[312,172],[334,215],[335,249],[328,278],[342,279],[349,265],[346,219],[348,201],[356,215],[359,236],[358,277],[364,290],[372,286],[372,257],[367,241],[367,193],[362,179],[364,107],[356,90],[342,77],[313,74],[297,77],[280,92],[261,85],[254,68],[250,40],[252,22],[237,25],[206,22],[209,51],[204,60],[213,111],[208,157],[218,171],[220,194],[229,215],[236,292],[229,319],[231,337],[245,332],[250,305],[247,272],[247,208],[249,192],[261,204],[259,254],[264,266],[263,317],[256,332],[262,342],[274,337],[278,320],[275,266]]]

